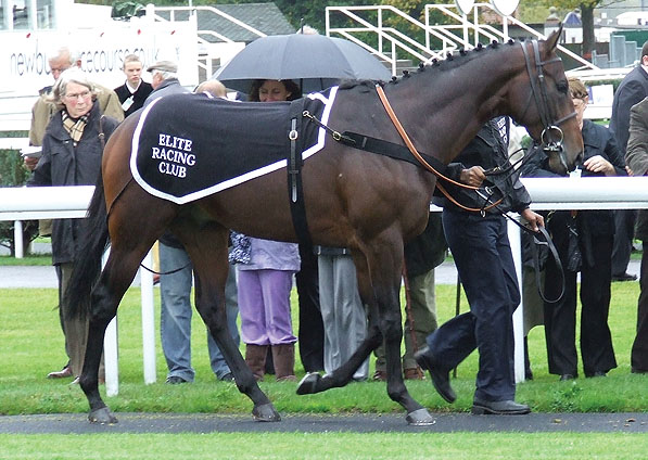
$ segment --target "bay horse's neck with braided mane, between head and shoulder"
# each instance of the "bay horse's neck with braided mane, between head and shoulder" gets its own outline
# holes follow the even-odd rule
[[[430,68],[394,88],[396,112],[415,144],[443,163],[450,163],[485,122],[509,110],[507,85],[522,72],[513,64],[514,50],[481,52],[463,65]]]

